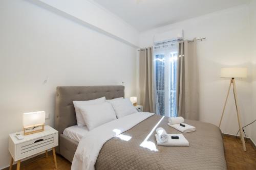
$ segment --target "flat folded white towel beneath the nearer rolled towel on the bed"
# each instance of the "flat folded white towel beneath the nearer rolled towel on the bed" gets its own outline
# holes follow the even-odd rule
[[[155,134],[157,144],[161,146],[170,146],[170,147],[188,147],[189,146],[189,142],[182,134],[167,134],[167,135],[168,135],[168,141],[164,143],[160,143],[158,140],[159,139],[158,135]],[[172,139],[172,136],[179,136],[179,139]]]

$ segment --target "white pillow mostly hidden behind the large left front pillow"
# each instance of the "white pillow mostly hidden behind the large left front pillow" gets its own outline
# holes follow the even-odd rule
[[[106,101],[105,97],[102,97],[102,98],[99,98],[99,99],[90,100],[90,101],[73,101],[73,104],[74,104],[74,107],[75,107],[75,111],[76,111],[77,126],[79,126],[79,127],[86,126],[86,123],[84,122],[83,117],[82,117],[80,111],[78,110],[78,107],[80,107],[80,106],[87,106],[87,105],[100,104],[100,103],[104,103],[105,101]]]

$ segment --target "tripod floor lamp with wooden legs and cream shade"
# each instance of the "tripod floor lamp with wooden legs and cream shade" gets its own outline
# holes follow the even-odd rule
[[[234,102],[236,104],[238,125],[239,125],[239,130],[240,130],[240,138],[241,138],[242,143],[243,143],[243,149],[244,149],[244,151],[246,151],[244,136],[243,136],[243,128],[242,128],[242,125],[241,125],[241,122],[240,122],[241,118],[240,118],[240,110],[239,110],[239,107],[238,107],[237,88],[236,88],[236,82],[234,81],[234,78],[246,78],[247,77],[247,68],[246,67],[226,67],[226,68],[222,68],[221,69],[221,77],[222,78],[231,78],[231,80],[230,80],[230,84],[229,84],[229,88],[228,88],[224,108],[223,108],[223,111],[222,111],[219,128],[221,126],[222,117],[223,117],[223,114],[224,114],[224,111],[225,111],[225,108],[226,108],[229,91],[230,91],[231,85],[233,85]]]

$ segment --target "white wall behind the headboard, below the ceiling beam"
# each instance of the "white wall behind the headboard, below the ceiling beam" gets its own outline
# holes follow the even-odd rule
[[[28,1],[0,1],[0,23],[0,169],[22,113],[45,110],[54,125],[56,86],[125,82],[125,95],[136,94],[134,47]]]

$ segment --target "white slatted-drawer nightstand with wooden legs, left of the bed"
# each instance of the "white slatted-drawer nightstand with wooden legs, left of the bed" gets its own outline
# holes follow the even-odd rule
[[[46,152],[52,148],[55,168],[57,168],[55,148],[58,145],[58,131],[50,126],[45,126],[45,131],[30,135],[23,135],[24,139],[19,140],[15,134],[24,134],[23,131],[9,134],[9,152],[12,156],[10,169],[12,169],[13,160],[17,162],[17,170],[20,167],[20,160],[29,156]]]

